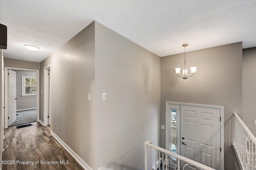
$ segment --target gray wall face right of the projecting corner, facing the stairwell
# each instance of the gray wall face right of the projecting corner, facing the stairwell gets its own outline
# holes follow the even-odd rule
[[[95,169],[142,170],[144,141],[160,138],[160,57],[95,25]]]

